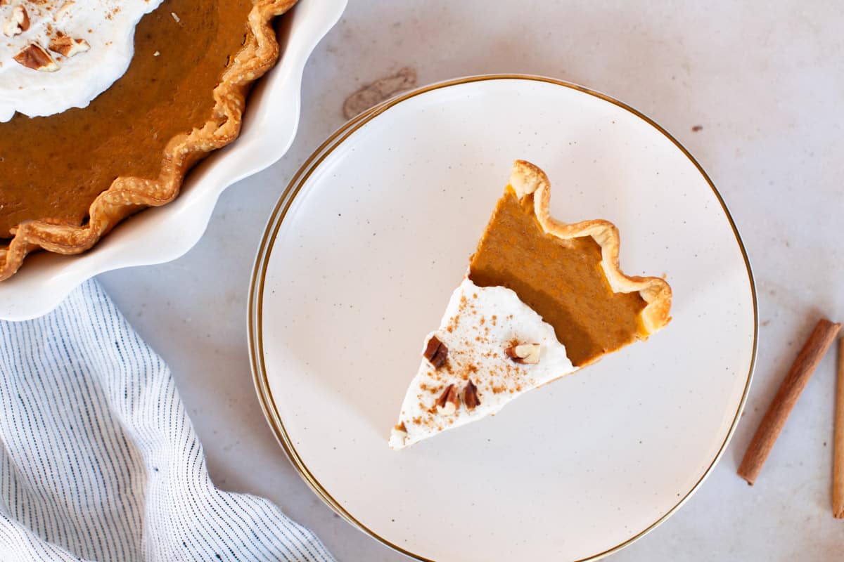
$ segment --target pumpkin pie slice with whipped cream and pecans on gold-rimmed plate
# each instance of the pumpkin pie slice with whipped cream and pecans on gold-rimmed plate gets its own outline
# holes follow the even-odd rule
[[[495,414],[668,324],[671,288],[619,269],[619,231],[549,216],[548,177],[517,160],[404,397],[390,447]]]

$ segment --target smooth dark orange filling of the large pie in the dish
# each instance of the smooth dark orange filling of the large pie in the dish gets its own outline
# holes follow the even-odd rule
[[[252,8],[165,0],[138,24],[127,72],[88,107],[0,122],[0,238],[27,220],[83,224],[118,176],[158,177],[167,142],[214,117],[214,87]]]

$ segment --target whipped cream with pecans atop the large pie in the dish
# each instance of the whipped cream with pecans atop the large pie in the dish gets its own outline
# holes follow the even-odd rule
[[[0,2],[0,121],[85,107],[120,78],[162,0]]]

